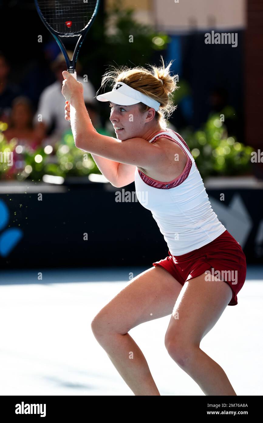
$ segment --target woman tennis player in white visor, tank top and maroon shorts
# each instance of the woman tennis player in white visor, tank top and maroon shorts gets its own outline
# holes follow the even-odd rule
[[[168,256],[134,277],[92,321],[95,338],[134,395],[160,395],[146,359],[129,335],[137,325],[171,315],[165,334],[168,354],[205,395],[234,391],[224,370],[200,349],[202,338],[227,305],[237,305],[246,258],[211,209],[195,160],[182,137],[166,126],[173,110],[176,77],[165,67],[106,72],[102,86],[117,139],[92,126],[80,82],[67,72],[62,94],[76,147],[92,154],[114,187],[135,181],[138,201],[152,212],[168,245]],[[140,239],[138,239],[140,242]],[[146,246],[147,248],[147,246]],[[131,359],[131,352],[133,359]]]

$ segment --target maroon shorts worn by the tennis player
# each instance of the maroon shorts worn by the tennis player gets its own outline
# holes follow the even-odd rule
[[[187,280],[206,273],[206,280],[223,280],[232,289],[233,296],[228,305],[237,305],[237,293],[244,285],[247,274],[246,256],[235,238],[223,232],[214,241],[183,255],[172,255],[156,261],[153,266],[162,266],[181,285]]]

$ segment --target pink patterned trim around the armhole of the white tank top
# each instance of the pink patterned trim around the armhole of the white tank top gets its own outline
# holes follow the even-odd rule
[[[164,131],[164,132],[167,132],[167,131]],[[159,134],[159,132],[158,132],[158,134]],[[175,134],[176,134],[176,132],[175,132]],[[178,134],[176,134],[176,135],[178,135]],[[179,176],[176,176],[175,179],[173,179],[172,181],[169,181],[169,182],[157,181],[157,179],[150,178],[149,176],[147,176],[144,172],[142,172],[139,169],[138,169],[138,173],[139,173],[141,179],[144,181],[144,183],[149,185],[150,187],[159,188],[161,190],[169,190],[170,188],[177,187],[178,185],[182,184],[182,182],[184,182],[184,180],[187,178],[187,176],[190,173],[190,170],[191,170],[191,167],[192,167],[192,161],[190,160],[190,157],[188,156],[188,154],[186,154],[186,152],[184,151],[182,146],[178,143],[178,141],[174,140],[174,138],[171,137],[170,135],[157,135],[157,137],[155,137],[152,142],[156,141],[158,138],[161,138],[161,137],[169,138],[170,140],[174,141],[179,147],[181,147],[182,151],[184,152],[184,154],[187,157],[187,162],[186,162],[186,165],[184,166],[184,170],[182,171],[182,173]],[[184,145],[189,150],[189,148],[188,148],[187,144],[184,142],[184,140],[181,139],[181,137],[179,137],[179,139],[182,140]]]

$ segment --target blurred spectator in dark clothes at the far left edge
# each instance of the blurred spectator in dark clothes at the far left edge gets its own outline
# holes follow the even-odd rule
[[[10,66],[4,54],[0,52],[0,121],[9,123],[13,100],[21,94],[18,85],[8,82]]]

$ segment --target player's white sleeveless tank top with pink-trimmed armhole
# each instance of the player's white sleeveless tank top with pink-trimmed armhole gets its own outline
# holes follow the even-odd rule
[[[167,137],[187,155],[181,175],[169,182],[150,178],[136,167],[135,189],[138,201],[152,212],[172,255],[182,255],[203,247],[226,228],[217,219],[203,185],[195,160],[182,137],[172,129],[157,133],[149,143]]]

